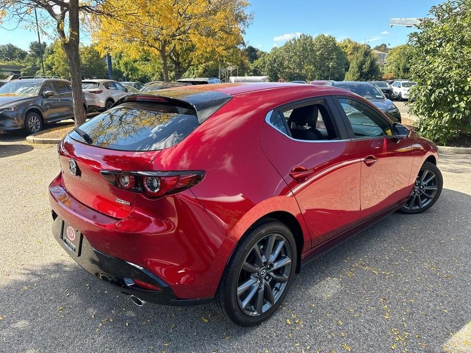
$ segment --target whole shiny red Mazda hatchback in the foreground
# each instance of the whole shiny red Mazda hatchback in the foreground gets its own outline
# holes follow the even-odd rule
[[[133,95],[60,143],[53,234],[146,302],[265,320],[302,264],[440,195],[435,145],[360,96],[283,83]]]

